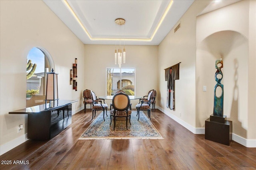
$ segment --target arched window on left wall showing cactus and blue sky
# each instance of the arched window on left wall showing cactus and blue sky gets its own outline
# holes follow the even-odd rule
[[[51,68],[49,57],[43,50],[34,47],[28,52],[26,64],[26,107],[44,104],[46,72]]]

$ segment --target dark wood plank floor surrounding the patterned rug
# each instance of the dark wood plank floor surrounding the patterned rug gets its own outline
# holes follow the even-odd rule
[[[96,113],[96,116],[100,111]],[[52,140],[28,140],[0,156],[1,170],[255,170],[256,148],[204,139],[156,110],[151,119],[164,139],[78,140],[91,123],[87,109]],[[134,115],[136,116],[136,115]],[[13,164],[15,163],[22,164]],[[26,164],[28,163],[28,164]]]

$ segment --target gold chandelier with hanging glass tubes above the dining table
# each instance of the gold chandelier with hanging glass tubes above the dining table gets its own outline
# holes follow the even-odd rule
[[[115,20],[116,25],[119,26],[119,38],[118,38],[118,50],[115,49],[115,64],[119,65],[119,68],[121,67],[122,62],[125,63],[125,45],[124,49],[122,51],[122,39],[121,39],[121,33],[122,33],[122,25],[125,24],[125,20],[122,18],[118,18]],[[122,60],[123,58],[123,60]]]

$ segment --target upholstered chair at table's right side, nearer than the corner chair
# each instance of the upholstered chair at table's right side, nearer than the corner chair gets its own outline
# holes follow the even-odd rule
[[[150,90],[147,99],[140,99],[140,102],[136,105],[138,120],[140,118],[140,110],[148,110],[148,117],[150,118],[150,102],[153,91]],[[150,118],[151,120],[151,118]]]

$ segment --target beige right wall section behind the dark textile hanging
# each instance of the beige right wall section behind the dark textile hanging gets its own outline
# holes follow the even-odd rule
[[[174,26],[158,49],[159,107],[192,128],[196,127],[196,16],[208,3],[195,1],[180,19],[178,31],[174,33]],[[181,63],[180,79],[175,80],[175,110],[170,110],[166,108],[167,82],[164,80],[164,69],[178,62]]]

